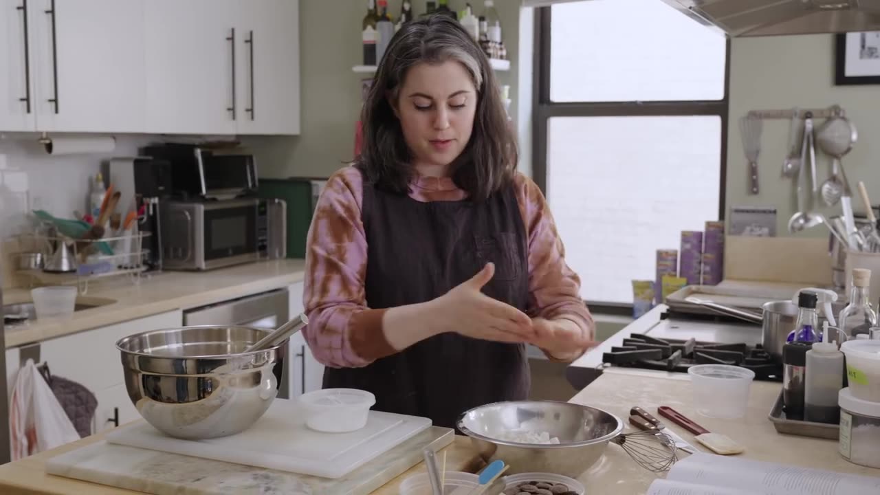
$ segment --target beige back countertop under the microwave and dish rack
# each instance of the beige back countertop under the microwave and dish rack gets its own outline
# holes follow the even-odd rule
[[[5,332],[6,347],[143,318],[175,309],[188,309],[271,291],[303,280],[304,260],[253,262],[204,272],[165,271],[144,274],[140,284],[106,279],[90,284],[81,299],[109,304],[77,311],[70,317],[28,321]],[[27,289],[4,291],[4,304],[31,299]],[[106,300],[109,299],[109,300]]]

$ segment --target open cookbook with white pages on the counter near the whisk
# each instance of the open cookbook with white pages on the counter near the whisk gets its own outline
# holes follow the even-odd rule
[[[798,468],[714,454],[676,462],[647,495],[877,495],[880,477]]]

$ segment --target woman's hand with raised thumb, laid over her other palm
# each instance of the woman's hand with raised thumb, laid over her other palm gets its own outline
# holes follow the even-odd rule
[[[511,343],[529,342],[535,338],[532,319],[528,315],[480,292],[493,275],[495,264],[487,263],[470,280],[431,301],[431,316],[438,325],[438,333],[455,332]]]

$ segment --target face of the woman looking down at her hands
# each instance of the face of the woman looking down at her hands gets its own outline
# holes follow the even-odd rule
[[[473,130],[477,91],[461,63],[419,63],[407,71],[394,113],[415,166],[448,166]]]

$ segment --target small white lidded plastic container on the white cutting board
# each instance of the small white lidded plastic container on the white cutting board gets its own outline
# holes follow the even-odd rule
[[[318,432],[354,432],[367,424],[376,395],[356,388],[325,388],[300,395],[308,417],[305,425]]]

